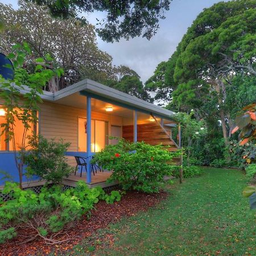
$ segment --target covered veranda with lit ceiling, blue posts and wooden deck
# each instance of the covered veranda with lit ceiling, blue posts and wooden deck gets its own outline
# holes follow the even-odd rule
[[[109,139],[111,136],[133,142],[162,143],[170,146],[170,151],[177,150],[178,145],[172,139],[171,128],[175,122],[172,121],[173,113],[170,110],[88,79],[56,92],[54,102],[84,111],[85,133],[78,136],[77,150],[68,151],[67,156],[73,161],[75,156],[84,158],[87,170],[92,170],[90,160],[96,152],[107,144],[117,143],[116,139]],[[104,117],[106,114],[108,118]],[[81,129],[79,126],[78,130]],[[74,186],[77,181],[85,180],[90,187],[106,187],[113,185],[105,182],[111,174],[111,171],[99,169],[93,174],[91,171],[85,172],[84,168],[81,177],[78,170],[76,175],[71,174],[64,182]]]

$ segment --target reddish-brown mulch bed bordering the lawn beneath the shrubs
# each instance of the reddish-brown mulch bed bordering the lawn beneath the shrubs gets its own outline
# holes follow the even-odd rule
[[[20,234],[30,232],[28,229],[18,230],[18,236],[3,245],[0,245],[1,255],[47,255],[53,250],[57,253],[64,253],[72,249],[84,238],[92,236],[98,229],[106,228],[110,223],[117,222],[123,216],[134,216],[136,213],[146,211],[148,208],[158,204],[166,199],[167,192],[160,192],[157,195],[148,195],[142,192],[130,191],[122,196],[121,201],[114,204],[106,204],[100,201],[95,205],[95,209],[91,211],[90,219],[84,216],[80,221],[73,225],[69,230],[69,236],[74,237],[73,240],[61,243],[60,245],[47,245],[44,241],[35,240],[30,243],[22,244],[24,238]],[[67,235],[59,236],[59,240],[65,240]]]

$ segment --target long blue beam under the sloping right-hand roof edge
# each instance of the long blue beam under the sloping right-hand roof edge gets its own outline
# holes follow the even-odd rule
[[[146,110],[143,110],[143,109],[138,109],[138,108],[135,108],[135,107],[127,105],[127,104],[123,104],[122,102],[119,102],[119,101],[111,100],[110,98],[105,98],[104,96],[98,96],[97,94],[86,92],[85,90],[82,90],[80,92],[80,94],[82,96],[86,96],[86,97],[90,97],[90,98],[96,98],[96,100],[100,100],[100,101],[108,102],[110,104],[121,106],[122,108],[130,109],[130,110],[138,110],[139,112],[144,113],[144,114],[149,114],[150,115],[150,114],[154,113],[154,112],[149,112],[149,111],[146,111]],[[164,115],[159,115],[159,114],[155,114],[155,113],[154,113],[154,115],[156,117],[172,120],[171,117],[168,118]]]

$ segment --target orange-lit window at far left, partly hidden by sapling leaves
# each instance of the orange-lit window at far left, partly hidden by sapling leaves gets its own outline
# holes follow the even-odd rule
[[[0,126],[2,123],[6,123],[5,115],[6,115],[5,110],[0,106]],[[4,129],[3,127],[0,127],[0,151],[6,151],[6,150],[13,151],[14,150],[13,142],[12,141],[6,142],[6,134],[2,134],[3,129]],[[34,130],[36,130],[36,127],[34,127],[34,125],[31,125],[31,129],[27,131],[27,136],[33,135]],[[15,136],[16,150],[19,150],[19,147],[22,143],[23,132],[24,132],[24,126],[22,121],[15,120],[14,136]],[[26,138],[26,144],[27,144],[27,141],[28,139]]]

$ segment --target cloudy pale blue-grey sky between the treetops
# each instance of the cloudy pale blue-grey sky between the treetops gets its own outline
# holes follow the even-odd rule
[[[228,0],[225,0],[225,2]],[[0,0],[2,3],[11,3],[18,8],[16,0]],[[166,12],[166,19],[160,20],[158,33],[147,40],[145,38],[134,38],[120,40],[117,43],[105,43],[97,38],[98,47],[108,52],[113,57],[113,64],[126,65],[134,69],[143,82],[152,74],[156,66],[168,58],[175,51],[182,36],[191,26],[196,16],[207,7],[212,6],[219,0],[173,0],[170,10]],[[96,24],[97,18],[103,18],[102,13],[87,15],[90,23]]]

